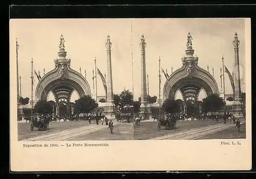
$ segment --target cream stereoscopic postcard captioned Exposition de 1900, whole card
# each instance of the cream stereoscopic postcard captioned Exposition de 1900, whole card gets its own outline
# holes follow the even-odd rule
[[[10,19],[11,171],[250,170],[250,23]]]

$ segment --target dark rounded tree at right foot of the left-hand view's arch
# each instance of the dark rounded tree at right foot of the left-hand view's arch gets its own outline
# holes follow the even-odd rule
[[[98,107],[98,104],[89,95],[83,96],[82,98],[76,100],[74,105],[76,113],[79,113],[79,114],[80,113],[88,114],[96,107]]]

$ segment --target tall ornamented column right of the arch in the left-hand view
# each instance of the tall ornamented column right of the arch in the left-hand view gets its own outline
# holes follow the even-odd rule
[[[106,38],[106,105],[105,105],[105,115],[109,118],[114,117],[114,94],[113,94],[113,78],[112,78],[112,61],[111,61],[111,47],[112,43],[110,41],[110,36]]]

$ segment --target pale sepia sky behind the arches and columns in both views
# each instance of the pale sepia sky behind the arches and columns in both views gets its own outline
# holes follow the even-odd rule
[[[133,33],[132,33],[133,25]],[[163,18],[163,19],[11,19],[10,20],[10,60],[16,60],[15,38],[17,38],[18,70],[22,78],[22,96],[31,98],[31,59],[34,70],[40,75],[54,69],[59,38],[65,38],[67,57],[71,68],[82,75],[87,71],[87,81],[93,92],[93,74],[96,57],[97,68],[106,73],[106,37],[110,35],[112,46],[113,91],[120,94],[123,89],[132,91],[138,99],[141,90],[140,38],[144,35],[146,74],[151,96],[158,96],[159,56],[161,67],[170,74],[181,68],[181,58],[185,55],[187,34],[193,37],[194,56],[199,57],[198,65],[212,74],[220,90],[220,68],[222,55],[224,63],[232,74],[234,71],[234,33],[240,40],[241,89],[245,92],[245,19],[242,18]],[[132,40],[133,39],[133,40]],[[133,51],[133,60],[132,60]],[[133,61],[133,65],[132,65]],[[132,80],[133,66],[133,80]],[[36,84],[37,84],[37,79]],[[165,78],[161,91],[163,90]],[[104,95],[100,77],[97,77],[98,96]],[[34,91],[35,91],[34,86]],[[231,84],[225,74],[226,94],[232,93]],[[162,93],[162,92],[161,92]],[[51,98],[51,97],[50,97]],[[74,93],[72,101],[77,98]]]

